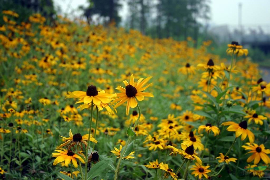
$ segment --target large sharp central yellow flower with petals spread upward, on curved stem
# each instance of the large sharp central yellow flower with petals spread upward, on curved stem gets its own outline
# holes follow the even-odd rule
[[[153,83],[150,83],[149,85],[144,86],[151,78],[152,78],[152,76],[145,78],[145,79],[140,78],[135,83],[133,74],[131,74],[129,83],[127,81],[123,81],[126,88],[123,88],[122,86],[118,86],[116,88],[117,90],[119,90],[121,92],[117,93],[117,99],[115,99],[112,102],[112,104],[117,102],[117,104],[114,106],[114,108],[117,108],[120,105],[127,102],[126,115],[129,115],[129,109],[135,108],[138,104],[138,102],[135,98],[137,98],[138,101],[143,101],[144,96],[154,97],[154,95],[149,93],[149,92],[143,92],[145,89],[147,89],[150,85],[153,84]]]

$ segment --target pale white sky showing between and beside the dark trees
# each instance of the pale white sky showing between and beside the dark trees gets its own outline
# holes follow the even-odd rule
[[[75,15],[82,12],[77,8],[80,5],[87,6],[87,0],[53,0],[56,6],[60,6],[62,12]],[[169,0],[168,0],[169,1]],[[126,1],[122,0],[123,8],[119,11],[122,19],[127,15]],[[242,24],[262,25],[270,28],[270,0],[211,0],[211,20],[213,25],[238,25],[238,5],[242,4]]]

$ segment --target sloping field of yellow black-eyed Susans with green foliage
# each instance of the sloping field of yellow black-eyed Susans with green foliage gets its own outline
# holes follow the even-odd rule
[[[248,50],[39,14],[0,25],[0,179],[267,179],[270,83]]]

